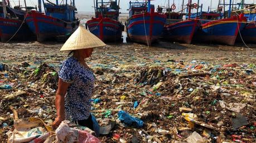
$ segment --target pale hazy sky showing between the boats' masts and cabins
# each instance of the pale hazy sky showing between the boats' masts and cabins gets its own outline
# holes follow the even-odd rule
[[[21,0],[22,1],[22,0]],[[55,0],[50,0],[51,2],[55,2]],[[59,2],[61,2],[62,0],[59,0]],[[68,2],[70,0],[67,0]],[[93,1],[94,0],[75,0],[76,3],[76,8],[78,8],[79,12],[93,12],[94,8],[93,8]],[[100,1],[100,0],[99,0]],[[108,1],[108,0],[105,0]],[[128,9],[128,3],[130,0],[120,0],[120,8],[121,12],[127,12],[126,9]],[[132,2],[135,0],[131,0]],[[141,0],[142,1],[142,0]],[[187,3],[188,0],[185,0],[185,3]],[[218,5],[218,1],[219,0],[212,0],[212,8],[216,8]],[[223,0],[222,0],[223,1]],[[234,3],[236,2],[240,2],[241,0],[234,0]],[[18,3],[17,0],[14,1],[16,2],[16,4]],[[176,9],[180,9],[181,8],[181,3],[182,0],[174,0],[175,4],[176,4]],[[192,0],[193,3],[197,3],[197,0]],[[225,0],[225,2],[229,2],[229,0]],[[245,0],[245,3],[256,3],[256,0]],[[168,0],[155,0],[151,2],[152,4],[160,5],[160,6],[166,6],[166,4],[168,3]],[[170,3],[173,3],[173,0],[170,0]],[[208,6],[210,6],[210,0],[200,0],[200,3],[203,3],[203,9],[206,10],[208,8]],[[27,0],[27,5],[37,5],[37,0]]]

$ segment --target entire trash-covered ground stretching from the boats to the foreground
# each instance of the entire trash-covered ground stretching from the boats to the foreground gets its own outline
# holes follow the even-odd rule
[[[0,141],[18,118],[51,124],[60,43],[2,44]],[[110,44],[87,60],[102,142],[255,142],[256,45]]]

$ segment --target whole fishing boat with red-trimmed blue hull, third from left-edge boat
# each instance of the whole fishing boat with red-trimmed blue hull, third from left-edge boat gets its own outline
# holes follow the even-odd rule
[[[126,21],[129,40],[150,46],[161,36],[165,23],[165,14],[154,12],[151,0],[129,2],[129,19]]]

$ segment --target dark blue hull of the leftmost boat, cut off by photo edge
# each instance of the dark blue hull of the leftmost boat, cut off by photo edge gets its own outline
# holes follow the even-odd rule
[[[0,38],[2,42],[11,40],[28,40],[33,33],[26,23],[17,19],[0,18]],[[14,35],[14,36],[13,36]]]

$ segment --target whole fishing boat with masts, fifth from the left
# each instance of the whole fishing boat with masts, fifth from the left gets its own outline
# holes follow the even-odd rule
[[[171,6],[174,8],[174,4]],[[189,8],[189,15],[191,12],[191,8],[194,8],[194,4],[189,1],[188,7]],[[172,9],[174,10],[174,9]],[[168,14],[167,14],[168,15]],[[175,14],[169,14],[169,16],[173,16]],[[178,15],[178,14],[176,14]],[[182,14],[180,14],[182,16]],[[182,20],[182,17],[172,17],[172,18],[178,18]],[[167,21],[170,24],[166,24],[164,29],[163,29],[163,38],[166,40],[174,41],[174,42],[182,42],[186,44],[190,44],[192,41],[192,38],[194,36],[194,33],[199,29],[200,27],[200,21],[197,19],[187,19],[185,21],[180,21],[180,22],[175,22],[171,23],[171,21],[176,21],[176,20],[169,20]]]

